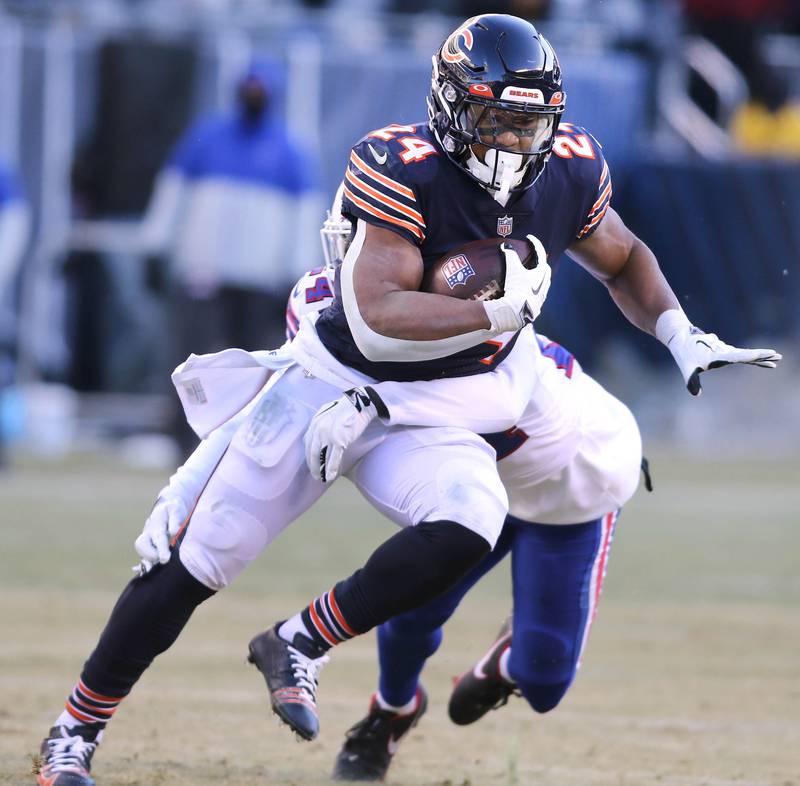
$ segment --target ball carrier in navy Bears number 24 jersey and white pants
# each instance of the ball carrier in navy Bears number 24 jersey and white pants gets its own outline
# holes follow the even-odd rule
[[[712,365],[774,366],[772,350],[736,350],[709,335],[698,342],[652,253],[608,208],[599,146],[582,129],[559,130],[564,105],[558,61],[532,25],[475,17],[435,56],[429,123],[379,129],[353,148],[343,206],[354,229],[337,276],[341,297],[316,323],[301,320],[292,362],[236,424],[177,548],[123,591],[42,743],[40,784],[93,784],[103,729],[153,659],[200,603],[319,499],[325,480],[347,474],[403,528],[362,569],[250,644],[275,712],[303,738],[317,735],[326,652],[452,587],[500,535],[508,499],[494,450],[477,433],[510,428],[522,408],[509,417],[508,404],[491,428],[492,413],[470,411],[486,409],[475,396],[481,374],[512,391],[511,401],[529,399],[536,340],[528,325],[549,285],[545,254],[569,249],[603,280],[636,325],[668,343],[695,392],[697,375]],[[544,252],[532,270],[507,255],[501,298],[419,291],[425,268],[445,251],[498,234],[536,236]],[[218,360],[208,361],[204,381],[203,360],[194,359],[189,387],[224,423],[238,409],[204,387],[224,381]],[[373,383],[452,377],[466,402],[463,420],[381,422],[393,413]],[[498,412],[506,404],[498,397]],[[319,410],[327,413],[315,431],[324,444],[309,473],[303,436]]]

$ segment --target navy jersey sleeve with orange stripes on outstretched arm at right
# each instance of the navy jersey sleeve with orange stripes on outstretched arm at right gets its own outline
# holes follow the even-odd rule
[[[585,128],[562,123],[559,134],[566,136],[562,154],[570,154],[573,178],[580,188],[581,220],[575,239],[585,240],[600,226],[611,204],[611,172],[602,146]]]

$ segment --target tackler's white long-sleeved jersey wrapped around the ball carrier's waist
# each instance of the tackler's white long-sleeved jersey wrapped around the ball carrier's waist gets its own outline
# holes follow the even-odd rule
[[[633,495],[641,464],[636,421],[563,347],[527,328],[491,372],[375,382],[342,366],[319,342],[313,322],[332,299],[322,268],[306,273],[293,288],[287,335],[297,337],[287,349],[298,365],[339,390],[373,385],[391,414],[390,429],[450,426],[483,435],[495,449],[512,516],[542,524],[580,523],[617,510]],[[509,338],[498,337],[498,344]],[[178,493],[191,507],[234,430],[223,426],[211,434],[162,494]],[[392,461],[388,455],[384,460]]]

